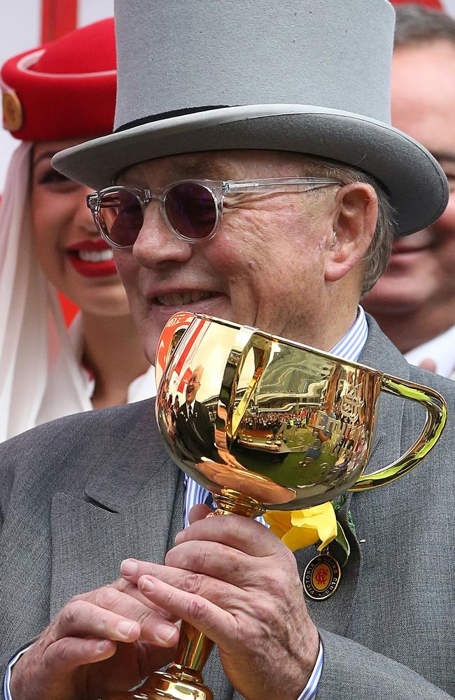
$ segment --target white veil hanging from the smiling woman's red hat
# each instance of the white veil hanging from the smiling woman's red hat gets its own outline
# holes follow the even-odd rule
[[[57,292],[34,251],[31,148],[24,143],[13,153],[0,204],[0,442],[92,409]]]

